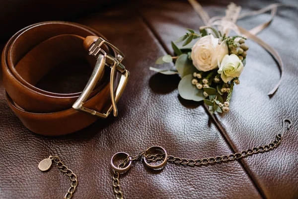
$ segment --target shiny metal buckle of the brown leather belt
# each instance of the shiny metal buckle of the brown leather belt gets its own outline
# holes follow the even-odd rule
[[[110,46],[118,53],[116,55],[116,58],[107,54],[101,48],[101,45],[103,45],[103,44]],[[84,90],[82,91],[82,93],[78,97],[78,99],[74,102],[73,108],[76,110],[82,111],[82,112],[90,113],[91,115],[96,115],[101,118],[106,118],[113,110],[114,116],[116,117],[118,114],[116,102],[120,99],[120,97],[126,87],[128,77],[129,77],[128,70],[126,70],[125,67],[123,66],[123,64],[121,64],[121,62],[125,58],[125,56],[118,48],[116,48],[114,45],[107,42],[106,40],[104,40],[101,37],[98,38],[97,41],[94,42],[89,47],[89,55],[93,55],[97,59],[97,62],[95,64],[94,70],[93,70],[93,72],[90,76],[90,79],[89,79],[88,83],[86,84]],[[88,99],[91,92],[93,91],[96,83],[99,80],[100,75],[103,73],[103,69],[105,66],[111,68],[110,96],[111,96],[112,105],[109,107],[109,109],[107,110],[106,113],[101,113],[96,110],[86,108],[83,106],[83,104]],[[114,80],[115,80],[116,71],[121,73],[121,78],[120,78],[118,87],[114,93]]]

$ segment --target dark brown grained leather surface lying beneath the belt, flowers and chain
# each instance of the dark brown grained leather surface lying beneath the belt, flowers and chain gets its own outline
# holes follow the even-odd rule
[[[248,11],[269,3],[238,4]],[[223,14],[227,4],[212,1],[203,6],[214,16]],[[195,168],[167,164],[161,172],[138,162],[121,176],[120,184],[127,199],[298,198],[297,13],[294,8],[279,8],[273,23],[259,35],[280,53],[285,64],[277,93],[267,96],[279,78],[275,61],[249,41],[247,65],[233,92],[231,110],[215,115],[203,103],[178,96],[179,77],[149,71],[157,57],[172,53],[170,41],[183,34],[184,28],[202,25],[187,1],[124,3],[75,20],[104,34],[127,57],[124,64],[131,78],[118,103],[119,115],[68,136],[36,135],[12,113],[0,83],[0,198],[63,198],[70,186],[66,176],[56,167],[47,173],[37,168],[49,155],[59,155],[77,174],[74,198],[114,198],[110,158],[118,151],[137,154],[160,145],[170,155],[185,158],[229,154],[269,143],[285,117],[292,119],[293,127],[271,152]],[[250,28],[266,19],[269,14],[239,24]]]

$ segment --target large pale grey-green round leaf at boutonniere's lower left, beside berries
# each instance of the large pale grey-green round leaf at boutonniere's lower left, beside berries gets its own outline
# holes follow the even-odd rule
[[[185,100],[202,101],[206,97],[203,95],[202,89],[199,90],[195,85],[191,84],[193,78],[193,75],[189,74],[180,80],[178,85],[179,94]]]

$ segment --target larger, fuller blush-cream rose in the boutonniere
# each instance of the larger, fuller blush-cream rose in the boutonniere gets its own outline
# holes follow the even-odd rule
[[[219,39],[206,35],[192,47],[191,59],[199,71],[210,71],[218,67],[224,55],[228,54],[226,42],[218,43]]]

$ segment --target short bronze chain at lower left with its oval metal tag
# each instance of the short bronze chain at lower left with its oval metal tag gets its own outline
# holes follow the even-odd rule
[[[57,165],[57,167],[59,168],[59,170],[64,173],[65,175],[67,175],[70,180],[71,180],[71,187],[70,189],[67,191],[66,195],[64,196],[64,199],[71,199],[74,195],[74,192],[76,190],[77,187],[77,177],[74,174],[74,172],[72,170],[70,170],[69,168],[67,168],[67,166],[65,166],[63,164],[63,162],[61,162],[60,158],[58,156],[49,156],[49,158],[46,158],[44,160],[42,160],[39,165],[38,168],[41,171],[48,171],[52,165],[52,161],[54,161]]]

